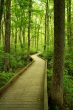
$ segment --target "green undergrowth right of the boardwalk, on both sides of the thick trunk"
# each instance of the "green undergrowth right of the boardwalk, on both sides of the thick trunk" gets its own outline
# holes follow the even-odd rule
[[[53,74],[53,53],[42,54],[41,57],[47,59],[47,78],[48,78],[48,96],[50,95],[51,80]],[[48,102],[50,103],[50,102]],[[59,110],[55,107],[52,110]],[[63,110],[73,110],[73,52],[65,54],[64,70],[64,106]]]

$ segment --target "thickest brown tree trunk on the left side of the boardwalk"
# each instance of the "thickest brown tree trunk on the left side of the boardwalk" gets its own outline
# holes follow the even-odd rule
[[[6,0],[6,17],[5,17],[5,62],[4,70],[10,69],[9,53],[10,53],[10,33],[11,33],[11,0]]]

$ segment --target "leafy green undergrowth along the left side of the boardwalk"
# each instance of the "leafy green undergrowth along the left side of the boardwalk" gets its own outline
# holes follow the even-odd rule
[[[34,53],[34,51],[32,51]],[[14,49],[7,55],[10,59],[9,72],[4,71],[4,51],[0,48],[0,88],[3,87],[20,69],[29,64],[32,59],[28,57],[27,51],[18,49],[16,53]]]

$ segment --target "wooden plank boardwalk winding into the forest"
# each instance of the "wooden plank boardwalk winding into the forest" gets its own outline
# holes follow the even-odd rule
[[[35,62],[0,98],[0,110],[43,110],[45,61],[37,55]]]

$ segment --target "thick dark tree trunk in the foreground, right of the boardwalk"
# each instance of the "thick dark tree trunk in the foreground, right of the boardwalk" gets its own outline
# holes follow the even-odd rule
[[[51,89],[52,102],[63,105],[65,36],[65,0],[54,0],[54,65]]]

